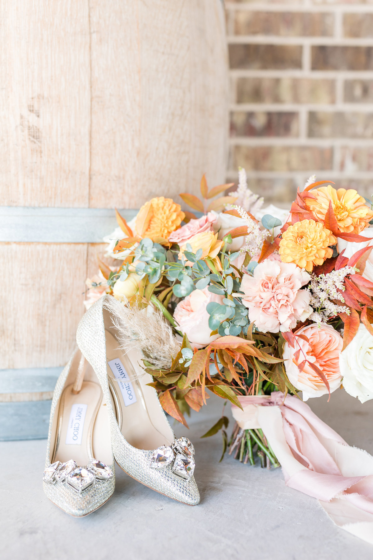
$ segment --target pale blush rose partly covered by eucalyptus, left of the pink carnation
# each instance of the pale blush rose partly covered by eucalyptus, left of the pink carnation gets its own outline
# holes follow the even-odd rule
[[[177,304],[173,318],[180,325],[180,330],[186,334],[191,345],[196,347],[206,346],[219,338],[218,334],[211,336],[209,327],[210,315],[206,311],[206,305],[210,301],[219,304],[223,302],[223,296],[204,290],[194,290]]]

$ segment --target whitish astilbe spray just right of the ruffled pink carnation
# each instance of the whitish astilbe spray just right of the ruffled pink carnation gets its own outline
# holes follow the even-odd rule
[[[320,325],[326,323],[330,317],[338,315],[338,313],[350,315],[348,307],[334,304],[331,300],[337,300],[344,304],[344,297],[338,290],[344,292],[344,277],[348,274],[355,274],[355,272],[356,268],[343,267],[332,270],[328,274],[320,274],[320,276],[311,274],[308,291],[311,296],[310,306],[314,309],[309,317],[312,321]]]

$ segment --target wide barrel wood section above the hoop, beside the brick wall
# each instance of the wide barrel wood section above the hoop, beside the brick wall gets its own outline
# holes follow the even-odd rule
[[[227,57],[220,0],[90,2],[89,206],[224,182]],[[124,31],[125,30],[125,31]],[[181,202],[181,200],[179,200]]]

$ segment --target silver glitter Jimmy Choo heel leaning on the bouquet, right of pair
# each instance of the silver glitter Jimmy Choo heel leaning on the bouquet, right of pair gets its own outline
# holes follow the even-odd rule
[[[126,353],[121,349],[105,307],[110,297],[101,297],[84,314],[77,343],[101,383],[115,460],[145,486],[195,506],[200,494],[193,478],[193,445],[186,437],[175,439],[157,391],[147,385],[153,379],[141,366],[136,342]]]

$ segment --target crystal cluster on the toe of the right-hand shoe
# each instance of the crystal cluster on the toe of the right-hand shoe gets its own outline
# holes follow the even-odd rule
[[[162,445],[153,451],[150,457],[152,469],[164,469],[172,465],[171,472],[177,477],[189,480],[196,466],[194,460],[194,447],[187,437],[175,439],[171,446]]]

